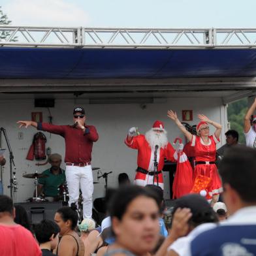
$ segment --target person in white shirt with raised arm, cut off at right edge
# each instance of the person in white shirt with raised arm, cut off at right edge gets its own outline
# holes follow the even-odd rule
[[[244,136],[246,136],[246,146],[250,148],[256,148],[256,116],[251,118],[255,109],[256,98],[244,117]]]

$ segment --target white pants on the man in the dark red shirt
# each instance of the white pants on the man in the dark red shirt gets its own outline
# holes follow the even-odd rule
[[[83,217],[91,219],[93,208],[93,173],[91,165],[86,167],[66,166],[66,180],[69,190],[69,206],[77,204],[79,189],[83,196]]]

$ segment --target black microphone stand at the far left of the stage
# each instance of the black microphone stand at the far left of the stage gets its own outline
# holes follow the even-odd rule
[[[5,130],[5,128],[1,127],[0,128],[0,132],[3,133],[3,135],[5,136],[5,141],[7,142],[7,147],[9,150],[9,158],[10,158],[10,185],[8,185],[8,187],[10,187],[10,198],[12,200],[16,200],[16,193],[17,193],[17,180],[16,180],[16,166],[14,163],[14,156],[12,153],[12,148],[10,148],[10,143],[7,137],[7,131]],[[14,167],[14,170],[12,170],[12,165]]]

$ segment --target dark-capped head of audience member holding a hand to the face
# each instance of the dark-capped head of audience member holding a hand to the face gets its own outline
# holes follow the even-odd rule
[[[208,201],[199,194],[189,194],[180,197],[174,203],[172,213],[174,214],[178,208],[189,208],[192,213],[189,223],[193,227],[197,227],[202,223],[217,222],[217,216]]]

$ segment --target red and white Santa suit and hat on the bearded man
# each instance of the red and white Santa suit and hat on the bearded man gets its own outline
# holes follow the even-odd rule
[[[157,128],[157,124],[161,123],[163,129],[163,123],[160,121],[156,121],[153,125],[153,129]],[[156,124],[157,123],[157,124]],[[151,148],[149,142],[146,140],[144,135],[133,136],[130,140],[128,138],[125,139],[125,144],[129,146],[129,148],[133,148],[138,150],[137,164],[138,169],[136,171],[135,176],[135,184],[145,186],[147,184],[155,184],[157,185],[157,178],[153,178],[154,171],[154,153],[155,148]],[[158,185],[163,189],[163,174],[162,169],[165,165],[165,158],[168,161],[176,161],[174,159],[175,150],[172,145],[168,142],[164,148],[157,149],[157,172],[158,172]],[[141,170],[142,169],[142,170]],[[142,173],[146,172],[146,173]]]

